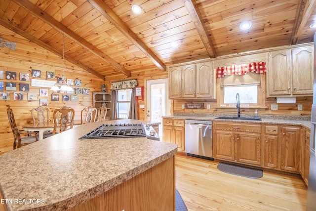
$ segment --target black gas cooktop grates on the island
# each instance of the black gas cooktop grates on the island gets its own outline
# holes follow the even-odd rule
[[[119,138],[119,137],[146,137],[146,132],[143,124],[104,124],[99,126],[80,139],[93,138]]]

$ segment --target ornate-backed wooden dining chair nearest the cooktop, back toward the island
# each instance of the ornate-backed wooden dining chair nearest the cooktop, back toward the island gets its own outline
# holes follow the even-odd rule
[[[75,110],[64,106],[62,108],[57,108],[53,113],[54,118],[54,129],[53,135],[56,134],[57,127],[59,132],[63,132],[67,129],[71,129],[74,126]]]

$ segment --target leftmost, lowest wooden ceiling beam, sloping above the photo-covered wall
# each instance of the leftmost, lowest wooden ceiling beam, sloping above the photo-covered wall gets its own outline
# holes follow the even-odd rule
[[[56,48],[53,48],[52,46],[46,44],[45,42],[40,41],[39,39],[33,37],[32,35],[30,35],[30,34],[24,32],[23,30],[21,30],[21,29],[15,27],[15,26],[13,26],[11,23],[6,22],[6,21],[4,21],[3,19],[0,19],[0,25],[3,26],[3,27],[5,27],[5,28],[7,28],[7,29],[9,29],[9,30],[11,30],[12,32],[15,32],[16,34],[18,34],[18,35],[24,37],[25,39],[27,39],[27,40],[29,40],[29,41],[35,43],[35,44],[40,45],[41,47],[45,48],[46,50],[55,53],[56,55],[60,56],[61,58],[63,57],[63,53],[60,52],[60,51],[58,51]],[[73,63],[74,65],[77,65],[78,67],[80,67],[80,68],[82,68],[82,69],[88,71],[89,73],[91,73],[91,74],[97,76],[98,78],[100,78],[100,79],[102,79],[102,80],[105,80],[105,77],[104,77],[103,75],[101,75],[101,74],[99,74],[98,72],[96,72],[95,70],[93,70],[93,69],[91,69],[91,68],[85,66],[84,64],[82,64],[82,63],[80,63],[79,61],[73,59],[72,57],[69,57],[69,56],[67,56],[67,55],[64,55],[64,58],[65,58],[67,61]]]

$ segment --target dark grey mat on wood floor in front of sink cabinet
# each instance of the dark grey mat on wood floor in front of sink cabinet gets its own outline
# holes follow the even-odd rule
[[[244,176],[252,179],[257,179],[262,177],[262,170],[260,169],[249,169],[246,167],[239,167],[231,164],[219,163],[217,169],[230,174],[235,174],[238,176]]]

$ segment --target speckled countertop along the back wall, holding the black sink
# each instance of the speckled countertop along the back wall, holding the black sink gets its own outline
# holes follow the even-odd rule
[[[163,116],[164,118],[173,119],[185,119],[185,120],[206,120],[206,121],[222,121],[222,122],[239,122],[239,123],[258,123],[258,124],[275,124],[275,125],[293,125],[302,126],[307,129],[311,129],[311,116],[297,116],[297,115],[259,115],[261,121],[249,121],[249,120],[218,120],[215,119],[220,116],[236,117],[237,115],[227,114],[213,114],[213,115],[184,115],[175,114],[169,116]],[[253,118],[253,115],[241,115],[241,117]]]

